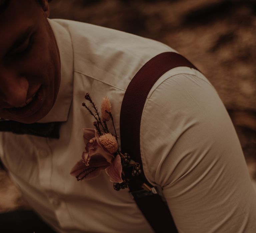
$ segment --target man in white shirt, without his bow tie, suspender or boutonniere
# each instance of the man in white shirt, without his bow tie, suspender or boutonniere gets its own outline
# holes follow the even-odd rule
[[[153,232],[127,189],[105,172],[70,175],[84,150],[81,107],[108,96],[119,135],[125,90],[166,45],[90,24],[48,20],[46,0],[4,1],[0,13],[0,117],[61,122],[60,138],[0,133],[0,156],[34,210],[58,232]],[[215,89],[178,67],[151,89],[141,119],[146,178],[163,188],[179,232],[255,232],[256,198],[242,150]],[[149,203],[150,204],[150,203]]]

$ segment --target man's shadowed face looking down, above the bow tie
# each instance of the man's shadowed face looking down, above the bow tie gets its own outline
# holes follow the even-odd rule
[[[0,118],[33,123],[56,100],[60,57],[45,5],[10,0],[0,12]]]

